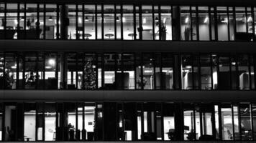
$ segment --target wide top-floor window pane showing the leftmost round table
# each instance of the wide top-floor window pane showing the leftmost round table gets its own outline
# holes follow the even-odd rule
[[[95,5],[84,5],[84,31],[85,39],[95,39]]]

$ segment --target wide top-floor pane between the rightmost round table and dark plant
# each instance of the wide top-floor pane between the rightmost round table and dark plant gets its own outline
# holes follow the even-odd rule
[[[153,39],[152,6],[142,6],[142,39]]]

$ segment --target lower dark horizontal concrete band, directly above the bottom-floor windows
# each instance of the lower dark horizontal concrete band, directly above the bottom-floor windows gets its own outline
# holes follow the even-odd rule
[[[256,102],[256,91],[1,90],[0,101]]]

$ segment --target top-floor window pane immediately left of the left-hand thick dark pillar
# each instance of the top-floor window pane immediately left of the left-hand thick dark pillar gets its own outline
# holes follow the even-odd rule
[[[57,39],[57,5],[45,5],[45,39]]]

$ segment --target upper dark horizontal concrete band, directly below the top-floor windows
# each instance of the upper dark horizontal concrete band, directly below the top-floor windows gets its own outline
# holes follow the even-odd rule
[[[0,51],[256,52],[256,42],[0,40]]]

